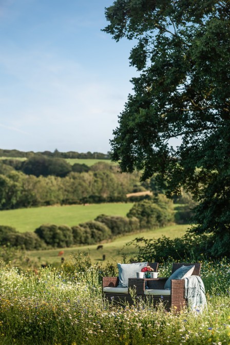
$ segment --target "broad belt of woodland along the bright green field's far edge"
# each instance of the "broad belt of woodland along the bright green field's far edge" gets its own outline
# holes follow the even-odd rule
[[[59,159],[50,158],[53,175],[62,176]],[[12,209],[54,204],[80,204],[127,201],[126,194],[139,181],[140,175],[118,174],[117,168],[108,164],[98,164],[88,172],[70,172],[65,177],[49,175],[51,165],[43,165],[48,159],[33,158],[37,165],[34,175],[25,175],[21,171],[10,171],[0,175],[0,209]],[[28,160],[25,164],[30,164]],[[57,169],[55,164],[60,167]],[[26,165],[25,165],[26,166]],[[28,167],[28,166],[27,166]],[[45,170],[43,170],[45,169]],[[30,170],[32,172],[32,170]],[[63,174],[65,175],[66,172]],[[48,175],[42,176],[41,174]]]

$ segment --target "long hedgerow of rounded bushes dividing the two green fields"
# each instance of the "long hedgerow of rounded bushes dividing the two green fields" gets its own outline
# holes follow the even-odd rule
[[[136,203],[127,217],[99,215],[93,221],[72,227],[43,224],[34,232],[25,233],[18,233],[13,227],[1,225],[0,245],[26,250],[90,245],[145,228],[157,228],[172,220],[172,202],[168,202],[162,195],[154,200]]]

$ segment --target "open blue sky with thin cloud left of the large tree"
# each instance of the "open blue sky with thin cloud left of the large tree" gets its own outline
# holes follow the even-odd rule
[[[113,0],[0,0],[0,148],[103,152],[133,42],[101,31]]]

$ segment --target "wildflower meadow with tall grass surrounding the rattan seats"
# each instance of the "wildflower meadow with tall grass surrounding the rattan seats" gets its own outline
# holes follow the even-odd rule
[[[166,276],[171,262],[159,266]],[[148,303],[110,306],[101,277],[109,275],[84,255],[62,269],[37,275],[9,266],[0,269],[0,342],[5,345],[228,345],[230,264],[202,263],[207,309],[180,313]]]

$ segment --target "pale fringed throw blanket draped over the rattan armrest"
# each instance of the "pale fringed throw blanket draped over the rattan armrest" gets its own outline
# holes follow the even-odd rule
[[[198,276],[190,276],[184,278],[184,282],[184,297],[187,298],[188,307],[191,310],[202,311],[207,304],[202,279]]]

